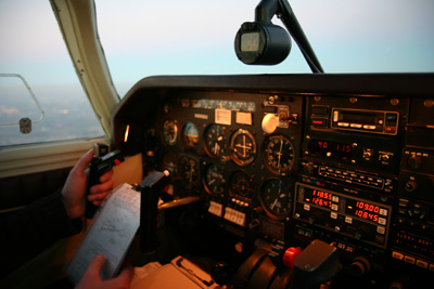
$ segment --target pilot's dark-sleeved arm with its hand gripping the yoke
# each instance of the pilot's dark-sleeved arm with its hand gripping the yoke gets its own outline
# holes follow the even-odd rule
[[[0,279],[24,265],[46,248],[82,229],[85,214],[86,168],[93,149],[84,155],[62,189],[30,203],[16,213],[0,216]],[[110,193],[113,171],[92,186],[88,199],[100,205]]]

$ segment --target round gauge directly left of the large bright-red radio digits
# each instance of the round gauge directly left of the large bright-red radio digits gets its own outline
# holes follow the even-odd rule
[[[266,181],[260,187],[259,200],[267,214],[273,219],[284,219],[291,212],[291,185],[278,179]]]

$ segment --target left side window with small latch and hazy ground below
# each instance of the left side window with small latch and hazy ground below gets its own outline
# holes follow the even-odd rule
[[[0,39],[0,146],[104,135],[49,1],[1,1]]]

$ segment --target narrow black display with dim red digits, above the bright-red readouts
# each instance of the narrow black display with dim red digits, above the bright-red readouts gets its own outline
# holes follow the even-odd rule
[[[353,157],[353,146],[347,143],[312,139],[309,141],[308,149],[311,156],[329,157],[342,160],[348,160]]]

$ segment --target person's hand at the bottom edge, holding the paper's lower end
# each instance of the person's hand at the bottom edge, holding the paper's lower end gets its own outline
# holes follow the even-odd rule
[[[100,276],[100,271],[103,264],[104,255],[95,255],[95,258],[93,258],[93,260],[89,263],[88,268],[75,289],[130,288],[131,279],[135,273],[132,266],[125,267],[115,278],[103,280]]]

